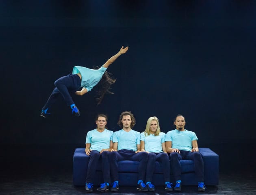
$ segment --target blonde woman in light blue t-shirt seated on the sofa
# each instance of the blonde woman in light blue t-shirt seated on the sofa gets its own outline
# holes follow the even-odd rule
[[[165,133],[161,132],[159,120],[156,116],[148,119],[146,129],[141,133],[141,151],[148,152],[148,163],[146,169],[145,182],[148,191],[154,191],[154,185],[151,183],[155,168],[155,162],[158,161],[163,167],[165,179],[165,190],[173,191],[170,183],[170,164],[169,156],[165,148]]]

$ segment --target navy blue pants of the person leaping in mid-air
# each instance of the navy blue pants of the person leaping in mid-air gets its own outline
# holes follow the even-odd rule
[[[56,86],[56,88],[54,88],[48,101],[43,106],[43,110],[51,107],[51,105],[56,102],[57,98],[60,95],[63,96],[63,98],[68,106],[74,104],[74,101],[72,100],[72,98],[70,96],[70,93],[74,93],[80,89],[81,79],[77,74],[75,74],[75,75],[69,74],[67,76],[57,79],[54,82],[54,85]]]

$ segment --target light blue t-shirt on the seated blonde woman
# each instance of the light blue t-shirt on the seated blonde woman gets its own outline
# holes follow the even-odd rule
[[[158,136],[154,134],[145,135],[141,133],[141,141],[145,143],[145,151],[147,152],[163,152],[162,143],[165,143],[165,133],[160,132]]]

